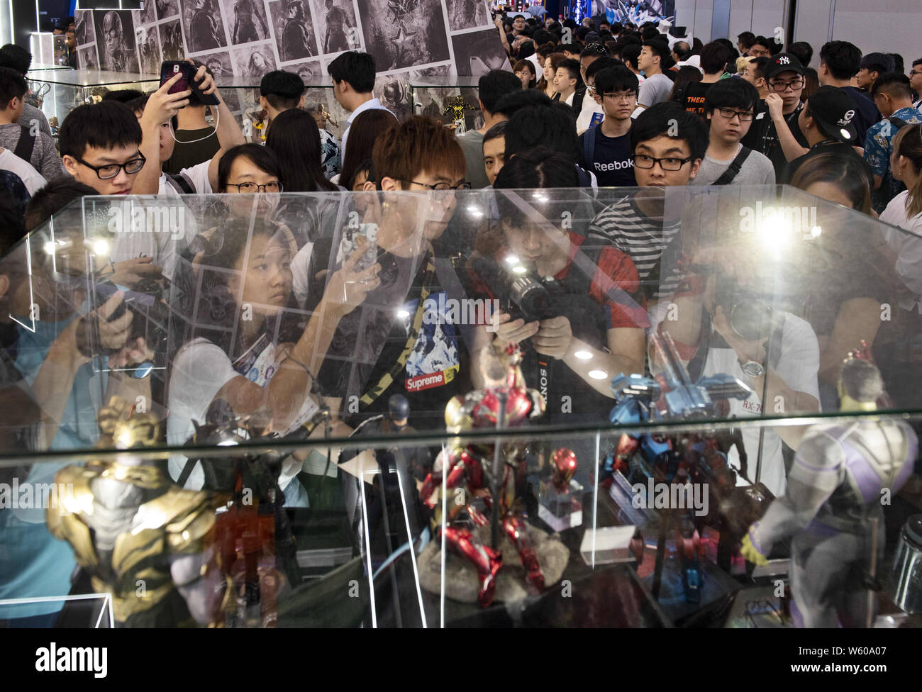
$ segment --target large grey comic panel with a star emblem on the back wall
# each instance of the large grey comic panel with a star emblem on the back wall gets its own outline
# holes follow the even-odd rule
[[[374,56],[378,72],[448,60],[441,3],[359,0],[359,13],[365,50]]]

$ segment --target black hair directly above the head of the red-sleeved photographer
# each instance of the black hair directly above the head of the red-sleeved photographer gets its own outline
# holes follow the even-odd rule
[[[536,147],[548,147],[576,163],[580,148],[576,115],[570,106],[553,101],[545,106],[528,106],[513,114],[506,126],[506,161]]]

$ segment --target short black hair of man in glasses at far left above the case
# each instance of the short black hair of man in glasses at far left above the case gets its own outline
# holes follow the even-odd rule
[[[113,149],[141,146],[141,125],[130,108],[119,101],[77,106],[61,123],[61,156],[83,157],[89,147]]]

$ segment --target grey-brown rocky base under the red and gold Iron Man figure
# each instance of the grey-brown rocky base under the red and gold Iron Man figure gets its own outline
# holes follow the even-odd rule
[[[526,524],[528,538],[535,546],[535,553],[544,572],[545,583],[553,584],[561,580],[563,569],[570,560],[570,549],[561,543],[557,534],[548,534],[534,526]],[[479,526],[477,534],[484,545],[490,545],[490,526]],[[515,546],[506,534],[502,534],[499,543],[502,555],[514,556]],[[423,548],[419,557],[420,586],[427,592],[442,591],[442,541],[435,539]],[[445,596],[461,603],[476,604],[480,592],[480,579],[477,569],[470,560],[458,556],[449,549],[445,555]],[[496,575],[496,593],[494,601],[514,603],[528,595],[526,571],[517,560],[508,560]]]

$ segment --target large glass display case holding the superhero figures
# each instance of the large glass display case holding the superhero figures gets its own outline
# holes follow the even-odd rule
[[[85,197],[0,262],[0,620],[918,626],[914,242],[774,186]],[[845,572],[876,610],[803,611]]]

